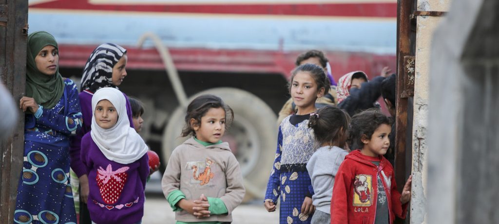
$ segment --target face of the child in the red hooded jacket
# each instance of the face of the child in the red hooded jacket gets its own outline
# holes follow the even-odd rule
[[[392,131],[392,127],[388,124],[381,124],[376,128],[371,139],[362,139],[364,147],[361,152],[367,156],[378,156],[386,154],[388,146],[390,146],[390,138],[388,135]]]

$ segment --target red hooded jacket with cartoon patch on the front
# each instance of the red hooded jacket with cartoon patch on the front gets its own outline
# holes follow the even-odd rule
[[[377,167],[372,161],[380,161]],[[407,205],[401,205],[393,167],[383,156],[366,156],[360,150],[345,157],[334,180],[331,224],[374,224],[378,172],[388,197],[390,224],[395,216],[405,219]]]

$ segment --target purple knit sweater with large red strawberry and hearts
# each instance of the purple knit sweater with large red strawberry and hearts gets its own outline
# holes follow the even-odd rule
[[[81,162],[88,174],[88,211],[97,224],[135,224],[144,216],[149,175],[147,153],[130,164],[107,159],[90,133],[81,139]]]

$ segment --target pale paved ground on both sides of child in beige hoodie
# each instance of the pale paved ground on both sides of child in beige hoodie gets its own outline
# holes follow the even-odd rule
[[[175,224],[175,213],[163,196],[160,178],[156,172],[147,183],[143,224]],[[268,213],[261,200],[241,205],[233,212],[233,224],[277,224],[278,220],[279,211]]]

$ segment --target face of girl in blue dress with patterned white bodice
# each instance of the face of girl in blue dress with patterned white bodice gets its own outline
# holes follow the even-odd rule
[[[315,108],[315,100],[324,95],[324,88],[318,89],[308,72],[298,72],[291,83],[290,94],[298,110]]]

